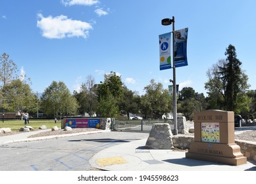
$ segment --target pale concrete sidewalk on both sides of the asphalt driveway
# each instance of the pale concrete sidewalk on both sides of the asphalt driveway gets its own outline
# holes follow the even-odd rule
[[[51,129],[2,136],[0,137],[0,145],[86,134],[86,132],[82,132],[28,138],[30,135],[42,131],[51,131]],[[89,162],[94,168],[109,171],[256,171],[255,162],[247,161],[247,164],[240,166],[228,166],[215,162],[194,160],[186,158],[185,151],[146,149],[144,147],[146,141],[147,139],[141,139],[101,150],[91,157]]]

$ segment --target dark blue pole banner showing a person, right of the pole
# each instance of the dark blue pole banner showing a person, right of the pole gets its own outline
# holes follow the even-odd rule
[[[174,31],[174,64],[175,67],[187,66],[188,28]]]

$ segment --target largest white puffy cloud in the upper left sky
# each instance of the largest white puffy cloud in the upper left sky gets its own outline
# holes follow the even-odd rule
[[[41,29],[43,37],[49,39],[62,39],[64,37],[88,37],[91,24],[80,20],[68,19],[67,16],[48,16],[38,14],[38,28]]]

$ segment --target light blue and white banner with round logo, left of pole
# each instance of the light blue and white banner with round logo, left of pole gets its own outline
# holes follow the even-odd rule
[[[160,70],[172,68],[170,60],[170,33],[159,35]]]

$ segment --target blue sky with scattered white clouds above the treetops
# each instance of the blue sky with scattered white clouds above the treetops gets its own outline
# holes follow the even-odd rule
[[[236,0],[1,0],[0,54],[7,53],[32,90],[63,81],[70,92],[91,75],[96,83],[111,71],[143,94],[151,79],[167,89],[172,69],[159,70],[159,34],[188,28],[188,66],[176,68],[176,83],[205,93],[206,72],[226,47],[236,47],[242,69],[256,89],[256,1]]]

